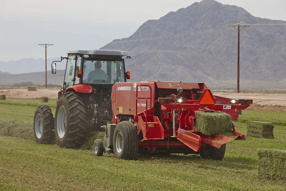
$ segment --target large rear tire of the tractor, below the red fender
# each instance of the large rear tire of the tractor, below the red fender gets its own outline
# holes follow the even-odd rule
[[[63,119],[65,112],[66,118]],[[79,148],[86,138],[86,112],[82,98],[67,92],[59,99],[55,111],[55,139],[60,147]]]

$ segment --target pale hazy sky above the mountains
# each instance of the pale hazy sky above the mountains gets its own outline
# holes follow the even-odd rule
[[[197,0],[198,2],[200,0]],[[285,0],[218,0],[254,16],[286,21]],[[68,50],[98,49],[132,35],[149,19],[188,7],[196,0],[0,0],[0,61],[44,58],[38,43],[54,44],[47,57]]]

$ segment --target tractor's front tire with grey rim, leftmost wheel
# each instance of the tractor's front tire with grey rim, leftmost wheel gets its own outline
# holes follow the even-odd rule
[[[34,115],[34,136],[37,143],[51,144],[55,140],[54,120],[51,108],[41,105]]]

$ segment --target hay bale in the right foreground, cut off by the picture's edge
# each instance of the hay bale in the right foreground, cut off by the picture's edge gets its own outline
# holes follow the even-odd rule
[[[286,151],[258,149],[258,174],[261,178],[286,180]]]

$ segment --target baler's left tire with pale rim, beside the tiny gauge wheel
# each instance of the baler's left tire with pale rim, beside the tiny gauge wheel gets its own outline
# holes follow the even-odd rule
[[[136,160],[138,148],[139,141],[136,126],[129,121],[120,122],[116,126],[113,135],[114,156],[118,159]]]

